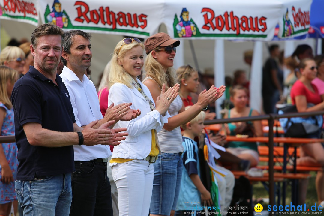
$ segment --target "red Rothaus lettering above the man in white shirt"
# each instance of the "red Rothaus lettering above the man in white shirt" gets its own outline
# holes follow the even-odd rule
[[[130,26],[135,28],[142,28],[144,29],[147,26],[147,15],[140,14],[137,15],[131,13],[123,13],[118,12],[115,13],[114,11],[110,10],[109,7],[99,7],[97,9],[90,10],[87,3],[82,1],[76,1],[75,5],[77,16],[75,21],[83,23],[86,21],[87,23],[93,22],[98,24],[101,22],[103,25],[109,25],[112,29],[117,28],[117,26]]]

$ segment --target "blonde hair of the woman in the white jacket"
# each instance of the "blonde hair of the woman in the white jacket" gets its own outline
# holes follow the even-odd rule
[[[109,74],[108,74],[109,88],[115,83],[124,84],[129,88],[134,87],[132,85],[131,75],[129,75],[127,71],[125,71],[125,69],[118,63],[118,60],[123,59],[128,51],[130,51],[131,49],[137,46],[141,46],[144,51],[143,43],[138,43],[136,41],[133,41],[130,44],[125,44],[123,43],[123,40],[117,43],[109,66]]]

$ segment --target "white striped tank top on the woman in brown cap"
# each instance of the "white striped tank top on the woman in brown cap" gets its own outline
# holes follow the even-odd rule
[[[173,117],[179,114],[179,110],[181,108],[182,99],[178,95],[171,103],[168,112]],[[161,152],[179,153],[184,151],[180,126],[173,129],[172,131],[167,131],[166,129],[162,128],[162,130],[157,133],[157,137],[159,139]]]

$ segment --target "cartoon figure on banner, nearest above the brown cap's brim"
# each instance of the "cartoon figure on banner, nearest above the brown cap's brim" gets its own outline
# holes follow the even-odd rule
[[[189,12],[187,8],[182,8],[180,22],[176,25],[176,28],[180,38],[196,35],[197,28],[195,24],[189,20]]]

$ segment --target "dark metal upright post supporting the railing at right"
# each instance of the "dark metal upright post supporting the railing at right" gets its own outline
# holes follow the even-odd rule
[[[273,125],[274,117],[270,114],[269,122],[269,205],[274,206],[274,162],[273,162]],[[272,210],[273,211],[273,210]]]

